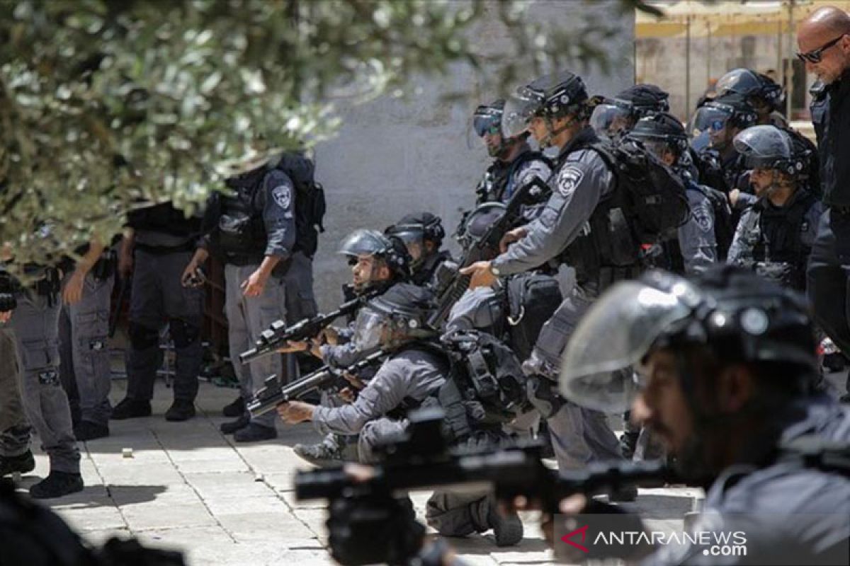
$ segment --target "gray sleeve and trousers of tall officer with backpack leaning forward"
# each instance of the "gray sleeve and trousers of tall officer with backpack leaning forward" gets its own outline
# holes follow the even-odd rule
[[[615,177],[604,160],[592,149],[573,150],[580,143],[591,143],[596,137],[590,128],[580,132],[559,155],[559,166],[549,180],[552,197],[541,215],[526,226],[527,235],[499,255],[492,265],[503,275],[525,272],[557,258],[567,246],[589,227],[589,219],[601,199],[615,188]],[[553,317],[543,325],[540,337],[524,369],[553,381],[530,378],[532,387],[554,389],[560,357],[575,327],[598,296],[594,282],[576,283]],[[542,396],[541,389],[530,391],[532,402]],[[570,401],[554,406],[540,405],[547,416],[558,468],[576,468],[592,460],[621,458],[614,433],[604,414],[577,406]],[[555,411],[553,413],[553,410]]]

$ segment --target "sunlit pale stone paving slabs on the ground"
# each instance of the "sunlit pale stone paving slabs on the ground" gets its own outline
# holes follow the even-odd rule
[[[113,401],[122,399],[126,382],[113,381]],[[292,452],[298,442],[319,440],[309,424],[278,423],[277,440],[236,445],[218,432],[220,409],[236,389],[201,383],[199,414],[185,423],[162,417],[171,391],[156,385],[154,416],[112,421],[111,436],[81,443],[82,493],[50,504],[92,542],[113,535],[138,536],[158,546],[178,548],[192,566],[331,564],[326,551],[323,502],[296,502],[292,477],[309,468]],[[34,451],[38,440],[33,442]],[[132,457],[123,451],[132,449]],[[36,470],[21,485],[48,472],[37,453]],[[641,490],[638,506],[656,526],[679,529],[700,490]],[[423,516],[428,493],[412,495]],[[452,539],[468,564],[551,563],[536,513],[524,514],[525,539],[519,546],[497,548],[492,534]]]

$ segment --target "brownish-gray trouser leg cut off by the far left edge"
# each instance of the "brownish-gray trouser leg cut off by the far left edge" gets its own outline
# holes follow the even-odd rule
[[[20,398],[20,359],[14,330],[0,324],[0,456],[20,456],[30,448],[30,423]]]

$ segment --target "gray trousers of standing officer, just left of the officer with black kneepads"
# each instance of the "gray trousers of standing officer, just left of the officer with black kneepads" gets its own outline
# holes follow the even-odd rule
[[[114,283],[114,276],[99,280],[89,272],[82,299],[74,305],[63,305],[59,312],[59,377],[75,421],[109,423],[112,407],[108,334]]]

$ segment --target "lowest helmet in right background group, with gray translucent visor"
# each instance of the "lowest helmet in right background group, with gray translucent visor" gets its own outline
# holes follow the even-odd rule
[[[793,177],[802,173],[803,160],[795,151],[791,136],[776,126],[747,128],[735,136],[733,144],[750,169],[776,169]]]

